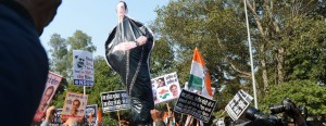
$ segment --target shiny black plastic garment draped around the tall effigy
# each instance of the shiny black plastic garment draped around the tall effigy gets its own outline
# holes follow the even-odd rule
[[[114,47],[125,41],[136,41],[146,36],[146,45],[128,51],[112,52]],[[153,48],[153,35],[141,23],[127,16],[109,35],[105,42],[105,58],[109,65],[120,74],[130,98],[130,124],[150,124],[150,110],[154,108],[149,72],[150,52]]]

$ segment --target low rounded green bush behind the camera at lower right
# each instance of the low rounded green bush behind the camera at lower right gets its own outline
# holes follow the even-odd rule
[[[326,114],[326,87],[311,80],[292,80],[273,86],[269,92],[260,101],[260,109],[269,112],[269,104],[279,104],[285,98],[293,100],[298,105],[304,105],[311,115]]]

